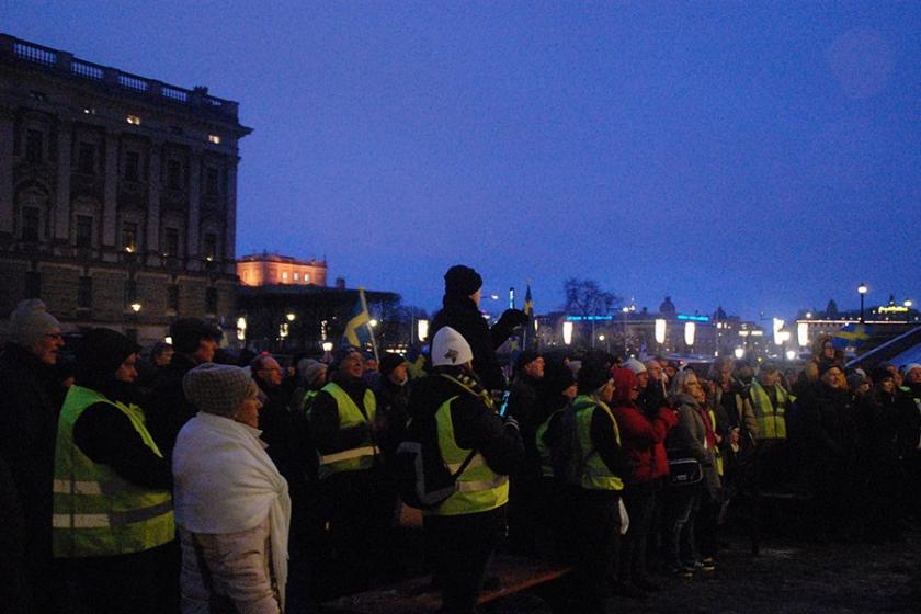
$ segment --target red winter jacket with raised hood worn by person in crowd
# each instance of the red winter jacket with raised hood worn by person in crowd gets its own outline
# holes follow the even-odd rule
[[[626,373],[624,373],[626,372]],[[669,474],[666,457],[666,435],[678,424],[678,416],[670,408],[659,409],[650,420],[629,400],[629,390],[636,386],[636,376],[627,368],[612,373],[614,399],[612,412],[621,431],[621,446],[634,466],[629,481],[645,482]]]

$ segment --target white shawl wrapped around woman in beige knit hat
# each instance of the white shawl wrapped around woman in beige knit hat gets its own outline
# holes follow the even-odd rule
[[[236,533],[269,515],[272,568],[284,610],[291,498],[261,431],[198,412],[173,451],[175,522],[192,533]]]

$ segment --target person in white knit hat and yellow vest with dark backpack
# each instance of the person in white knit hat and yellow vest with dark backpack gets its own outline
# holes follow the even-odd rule
[[[509,474],[524,454],[518,422],[503,419],[473,371],[473,350],[451,327],[432,341],[432,375],[413,383],[409,412],[425,421],[442,461],[457,471],[456,491],[423,512],[441,612],[471,613],[486,568],[504,530]]]

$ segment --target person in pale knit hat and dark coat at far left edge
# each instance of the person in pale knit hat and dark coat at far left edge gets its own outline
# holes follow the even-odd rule
[[[21,513],[11,515],[14,568],[10,585],[21,587],[21,602],[42,614],[55,612],[53,592],[43,590],[54,578],[52,557],[52,481],[57,417],[65,388],[56,365],[64,346],[60,323],[37,298],[22,300],[10,314],[7,343],[0,352],[0,456],[15,486]],[[13,498],[11,498],[13,499]]]

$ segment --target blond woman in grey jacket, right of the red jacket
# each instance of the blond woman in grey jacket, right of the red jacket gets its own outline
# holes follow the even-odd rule
[[[706,395],[691,369],[675,373],[671,395],[678,405],[678,424],[666,440],[669,461],[693,459],[701,466],[703,481],[671,484],[666,490],[666,556],[672,572],[691,577],[704,566],[697,552],[695,521],[703,488],[718,489],[713,424],[704,410]]]

